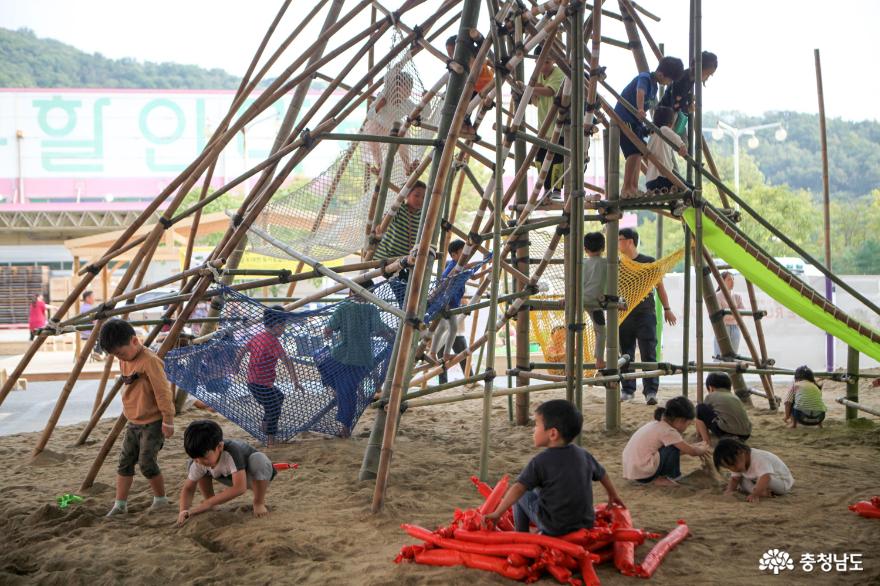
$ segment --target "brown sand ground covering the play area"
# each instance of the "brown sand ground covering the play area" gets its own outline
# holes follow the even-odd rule
[[[455,394],[458,391],[447,391]],[[661,398],[676,394],[665,389]],[[750,504],[722,494],[717,481],[684,458],[686,483],[675,489],[634,486],[620,475],[620,454],[630,433],[651,417],[643,402],[622,406],[623,429],[602,431],[604,390],[590,389],[584,403],[584,445],[605,465],[634,522],[668,531],[676,519],[692,536],[673,551],[653,578],[656,584],[880,584],[880,521],[863,519],[846,506],[880,494],[880,426],[870,421],[848,427],[843,408],[833,403],[843,386],[828,383],[830,421],[823,429],[785,429],[779,414],[756,398],[750,409],[754,447],[779,455],[796,484],[782,498]],[[880,390],[865,385],[865,403],[880,406]],[[559,393],[533,395],[533,405]],[[105,519],[113,500],[115,459],[111,452],[85,501],[60,510],[55,497],[76,492],[97,453],[97,443],[72,447],[80,426],[59,428],[49,450],[35,462],[36,434],[0,438],[4,474],[0,480],[0,583],[2,584],[501,584],[502,578],[477,570],[396,565],[401,545],[412,541],[401,523],[434,527],[448,523],[456,507],[479,504],[469,476],[478,468],[480,402],[411,409],[400,426],[385,510],[370,513],[373,484],[356,480],[372,424],[368,411],[349,440],[307,438],[269,451],[275,461],[301,468],[282,472],[269,490],[271,514],[255,519],[249,495],[220,511],[176,528],[177,507],[146,511],[149,487],[136,477],[131,513]],[[170,498],[184,478],[182,430],[204,417],[188,410],[178,432],[160,455]],[[874,422],[877,419],[874,418]],[[221,421],[228,437],[248,439]],[[111,420],[94,437],[102,440]],[[491,422],[490,474],[516,475],[533,455],[531,428],[508,422],[507,400],[497,399]],[[604,496],[595,485],[596,498]],[[647,552],[641,546],[637,559]],[[795,559],[795,570],[773,576],[758,570],[770,548]],[[803,553],[862,554],[862,572],[806,573],[797,565]],[[632,583],[613,568],[600,567],[605,584]],[[544,580],[542,583],[551,583]]]

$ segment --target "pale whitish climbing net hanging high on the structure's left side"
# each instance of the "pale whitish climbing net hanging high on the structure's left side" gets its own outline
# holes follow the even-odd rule
[[[395,39],[399,40],[399,32]],[[436,127],[440,100],[428,96],[411,52],[392,61],[384,77],[382,90],[367,110],[360,133],[387,136],[395,122],[404,124],[427,100],[418,122]],[[408,125],[403,134],[409,138],[433,138],[433,131],[421,125]],[[330,260],[364,248],[370,221],[371,202],[382,176],[388,152],[387,143],[358,141],[349,143],[326,170],[306,185],[278,193],[265,207],[255,226],[291,248],[318,260]],[[424,146],[399,145],[391,172],[391,188],[383,212],[391,208],[409,171],[422,157]],[[278,248],[251,239],[251,247],[262,254],[283,257]]]

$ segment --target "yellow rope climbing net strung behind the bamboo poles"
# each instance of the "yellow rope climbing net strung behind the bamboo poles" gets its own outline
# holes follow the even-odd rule
[[[530,256],[540,257],[547,250],[550,236],[542,232],[530,235]],[[558,246],[553,253],[554,260],[564,257],[564,249]],[[629,312],[635,308],[673,266],[684,258],[684,248],[679,249],[668,256],[652,263],[638,263],[628,257],[620,257],[620,276],[618,280],[620,296],[626,300],[627,309],[620,311],[620,321],[626,319]],[[532,299],[557,301],[565,298],[565,268],[562,264],[551,264],[547,267],[542,281],[547,282],[549,290],[533,295]],[[541,352],[547,362],[565,362],[565,312],[535,310],[531,316],[532,340],[541,346]],[[584,362],[593,362],[593,322],[589,312],[584,312]],[[585,374],[591,374],[584,371]],[[551,370],[551,374],[564,374],[562,371]]]

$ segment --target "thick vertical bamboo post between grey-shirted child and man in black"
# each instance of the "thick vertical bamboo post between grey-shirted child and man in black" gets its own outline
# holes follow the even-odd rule
[[[608,131],[608,149],[605,157],[606,172],[606,195],[611,204],[620,202],[620,131],[617,124],[611,124]],[[620,230],[620,212],[615,211],[609,216],[605,229],[605,256],[608,263],[608,282],[605,285],[605,297],[610,300],[606,308],[606,336],[605,336],[605,372],[609,375],[620,373],[618,358],[620,356],[620,313],[617,305],[618,278],[620,276],[620,247],[617,233]],[[630,357],[632,358],[632,357]],[[620,429],[620,383],[611,382],[605,385],[605,430],[616,431]]]

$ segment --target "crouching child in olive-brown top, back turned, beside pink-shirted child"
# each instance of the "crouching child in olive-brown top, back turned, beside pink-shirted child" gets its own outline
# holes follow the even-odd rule
[[[752,435],[752,422],[742,401],[731,391],[730,377],[724,372],[710,372],[706,377],[708,393],[697,405],[697,432],[703,442],[715,437],[734,436],[742,441]]]

